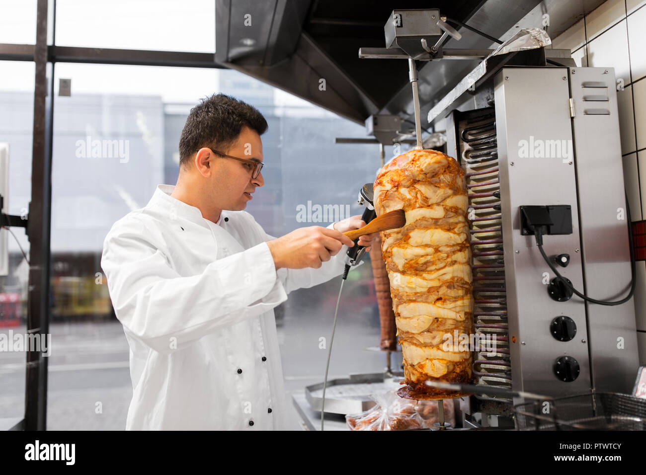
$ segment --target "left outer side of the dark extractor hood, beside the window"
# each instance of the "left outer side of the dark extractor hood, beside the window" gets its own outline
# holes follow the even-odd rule
[[[363,123],[377,112],[374,100],[302,31],[306,13],[307,3],[295,0],[216,1],[215,60]]]

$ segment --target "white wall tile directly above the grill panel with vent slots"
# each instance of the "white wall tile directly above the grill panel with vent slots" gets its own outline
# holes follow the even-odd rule
[[[588,43],[588,64],[594,67],[612,67],[616,78],[623,78],[626,84],[630,83],[625,20]]]

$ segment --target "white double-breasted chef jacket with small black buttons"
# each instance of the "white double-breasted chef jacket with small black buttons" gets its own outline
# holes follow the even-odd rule
[[[253,216],[222,211],[213,223],[173,189],[158,185],[103,243],[101,267],[130,345],[126,429],[284,429],[273,308],[340,275],[348,247],[318,269],[276,271],[273,237]]]

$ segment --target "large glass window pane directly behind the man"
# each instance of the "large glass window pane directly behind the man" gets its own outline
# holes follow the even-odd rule
[[[71,79],[71,96],[56,92],[54,105],[50,332],[57,349],[50,357],[48,428],[123,429],[132,397],[129,350],[101,274],[103,238],[116,220],[145,206],[156,185],[175,184],[191,107],[224,92],[265,114],[266,184],[247,211],[276,237],[360,215],[356,197],[375,178],[379,149],[335,145],[335,136],[364,136],[364,128],[231,70],[59,63],[56,85],[61,78]],[[88,147],[94,141],[110,147],[94,153]],[[308,206],[329,212],[319,220]],[[379,346],[366,261],[346,284],[331,375],[348,372],[344,355]],[[339,285],[340,277],[295,291],[276,310],[287,390],[323,378],[326,354],[318,339],[329,337]],[[385,357],[368,352],[353,360],[352,372],[375,372]]]

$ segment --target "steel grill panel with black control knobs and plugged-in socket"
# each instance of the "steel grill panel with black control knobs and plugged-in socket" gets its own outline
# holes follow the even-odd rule
[[[585,306],[581,299],[556,302],[548,296],[544,282],[554,276],[534,237],[521,235],[519,215],[523,205],[572,206],[572,234],[546,236],[545,248],[548,255],[570,253],[562,274],[575,288],[583,288],[581,254],[575,252],[581,242],[574,166],[562,156],[525,158],[520,153],[521,141],[572,143],[567,69],[504,68],[494,83],[512,387],[547,396],[581,394],[590,389],[588,345],[578,337],[587,332]],[[562,342],[550,335],[550,322],[557,315],[576,322],[576,338]],[[581,367],[570,383],[557,379],[552,370],[563,355],[576,358]]]

